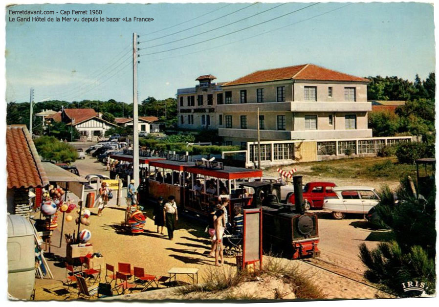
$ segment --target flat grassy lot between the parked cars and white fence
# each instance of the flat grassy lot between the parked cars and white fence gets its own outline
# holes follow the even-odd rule
[[[399,180],[416,174],[415,165],[397,163],[395,158],[348,158],[301,165],[309,166],[310,170],[299,171],[298,175]]]

